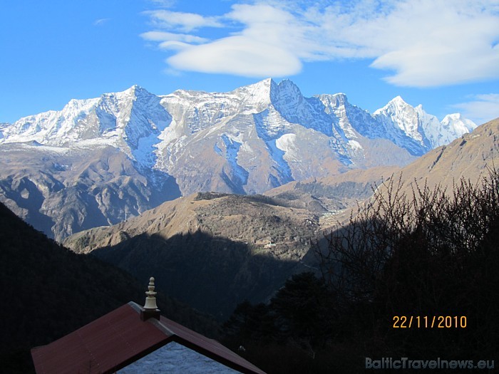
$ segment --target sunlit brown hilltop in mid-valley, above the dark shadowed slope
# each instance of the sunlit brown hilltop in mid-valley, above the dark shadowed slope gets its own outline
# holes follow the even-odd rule
[[[65,245],[73,251],[88,253],[140,234],[169,239],[178,234],[202,232],[248,244],[254,253],[299,260],[309,248],[309,237],[318,229],[317,214],[283,207],[269,197],[199,193],[165,202],[112,227],[75,234]]]

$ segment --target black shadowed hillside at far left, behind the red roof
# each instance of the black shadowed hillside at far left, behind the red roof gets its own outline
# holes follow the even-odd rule
[[[0,204],[0,373],[34,373],[30,348],[128,301],[143,303],[146,285],[147,279],[139,282],[92,256],[74,254]],[[215,335],[210,318],[158,298],[165,316]]]

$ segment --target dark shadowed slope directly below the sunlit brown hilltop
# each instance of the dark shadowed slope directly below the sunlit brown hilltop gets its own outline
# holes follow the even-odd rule
[[[305,269],[297,261],[257,253],[248,244],[202,232],[168,239],[140,234],[96,249],[91,256],[139,277],[154,271],[158,288],[220,321],[242,301],[268,300],[289,276]]]

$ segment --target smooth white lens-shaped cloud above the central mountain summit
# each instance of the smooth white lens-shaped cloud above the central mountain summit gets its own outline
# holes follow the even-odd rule
[[[301,36],[290,14],[267,5],[235,5],[225,19],[245,24],[233,36],[184,48],[168,58],[173,68],[240,76],[290,76],[302,68]],[[294,49],[294,51],[292,51]]]

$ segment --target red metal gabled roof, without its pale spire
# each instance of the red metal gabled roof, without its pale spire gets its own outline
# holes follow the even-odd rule
[[[241,373],[262,370],[222,344],[195,333],[163,316],[160,321],[140,319],[138,304],[130,302],[88,325],[54,341],[33,348],[37,374],[114,373],[154,350],[178,343],[196,350]]]

